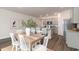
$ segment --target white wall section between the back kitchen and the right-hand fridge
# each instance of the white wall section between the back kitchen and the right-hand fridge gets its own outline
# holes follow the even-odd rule
[[[58,13],[58,34],[64,35],[64,20],[69,20],[72,18],[72,11],[65,10],[61,13]]]

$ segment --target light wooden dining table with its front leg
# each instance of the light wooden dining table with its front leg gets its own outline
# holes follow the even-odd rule
[[[31,34],[29,36],[26,35],[26,33],[17,33],[18,35],[23,35],[26,44],[28,45],[28,51],[32,51],[33,45],[38,43],[39,41],[43,40],[44,35],[37,33],[37,34]]]

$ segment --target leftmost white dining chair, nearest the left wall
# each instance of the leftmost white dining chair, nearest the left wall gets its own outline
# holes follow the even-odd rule
[[[14,35],[14,33],[9,33],[10,37],[11,37],[11,43],[12,43],[12,51],[15,50],[18,51],[19,50],[19,41],[16,40],[16,37]]]

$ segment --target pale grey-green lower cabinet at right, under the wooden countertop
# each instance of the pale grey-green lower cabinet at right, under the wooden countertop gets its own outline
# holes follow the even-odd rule
[[[79,32],[67,30],[66,44],[68,47],[79,49]]]

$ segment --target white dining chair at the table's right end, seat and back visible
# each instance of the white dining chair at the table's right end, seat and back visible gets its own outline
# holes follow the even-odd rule
[[[43,44],[36,45],[33,51],[47,51],[48,37],[44,37]]]

